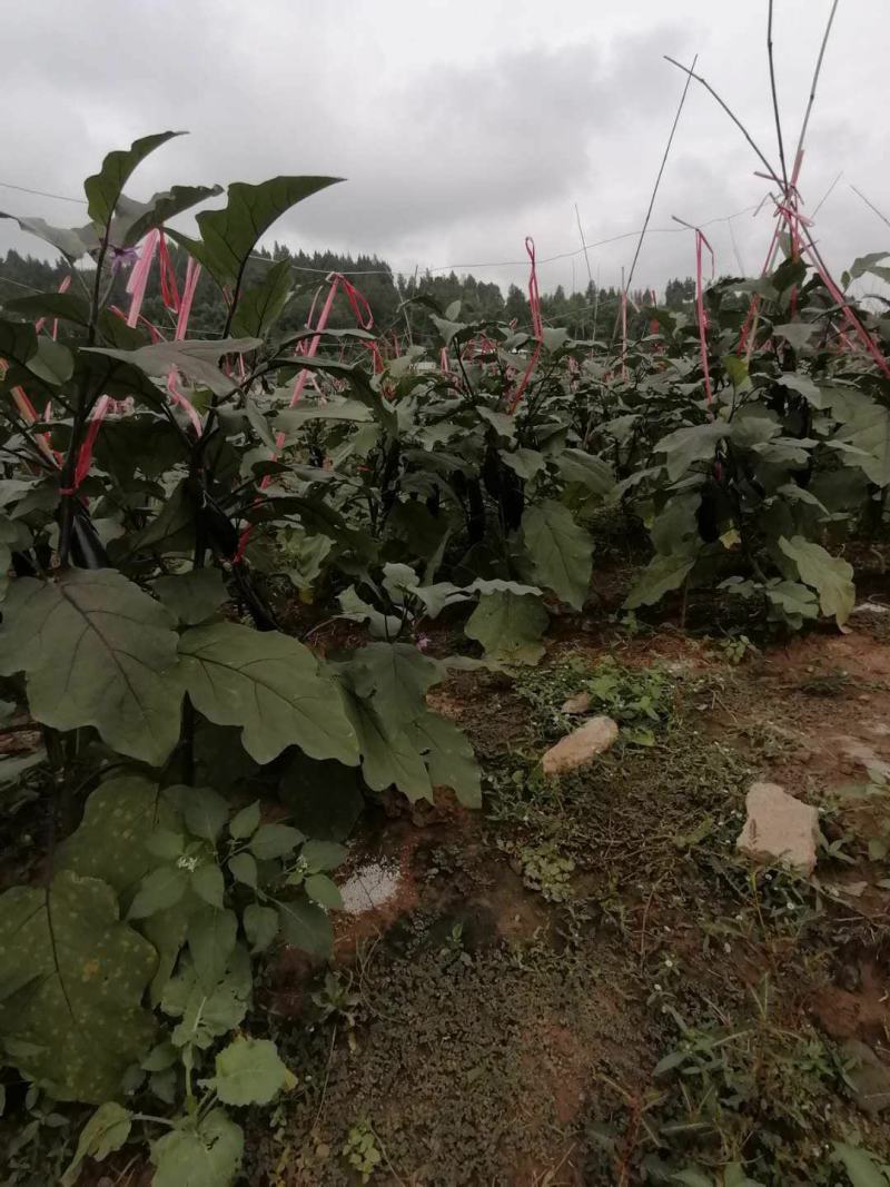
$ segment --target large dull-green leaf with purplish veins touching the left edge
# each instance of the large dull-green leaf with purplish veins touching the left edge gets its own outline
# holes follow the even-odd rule
[[[112,569],[14,582],[0,630],[0,673],[27,673],[44,725],[95,725],[121,754],[159,766],[179,736],[177,635],[160,603]]]

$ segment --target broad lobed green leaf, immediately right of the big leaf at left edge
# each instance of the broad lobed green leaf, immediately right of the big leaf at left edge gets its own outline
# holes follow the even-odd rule
[[[299,745],[313,758],[357,763],[339,690],[295,639],[225,622],[187,630],[179,652],[196,709],[217,725],[242,726],[258,762]]]

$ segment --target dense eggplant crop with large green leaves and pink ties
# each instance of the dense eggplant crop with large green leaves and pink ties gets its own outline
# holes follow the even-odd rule
[[[244,1107],[292,1083],[246,1022],[260,970],[281,945],[330,953],[367,798],[479,806],[426,694],[535,665],[554,618],[602,612],[604,518],[649,540],[627,614],[714,590],[776,631],[844,627],[840,553],[882,529],[890,485],[890,318],[844,288],[890,269],[835,285],[790,226],[768,274],[637,310],[636,337],[420,298],[440,343],[390,357],[354,292],[355,329],[316,311],[285,334],[288,260],[244,284],[333,182],[278,177],[231,184],[195,239],[166,228],[227,319],[196,339],[180,310],[164,338],[108,294],[216,196],[125,193],[171,135],[109,153],[87,226],[18,220],[71,283],[0,319],[0,709],[42,734],[0,780],[43,829],[0,896],[0,1064],[13,1118],[95,1106],[64,1181],[127,1145],[158,1187],[216,1187]],[[456,654],[431,650],[437,620]]]

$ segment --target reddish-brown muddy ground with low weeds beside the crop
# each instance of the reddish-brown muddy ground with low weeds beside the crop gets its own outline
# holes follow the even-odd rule
[[[299,1084],[248,1179],[784,1187],[846,1182],[835,1141],[888,1156],[888,623],[738,655],[567,622],[540,668],[451,680],[484,808],[387,801],[352,869],[396,886],[339,919],[335,979],[271,971],[258,1024]],[[542,779],[604,660],[655,673],[651,744],[631,722]],[[812,880],[737,855],[755,779],[819,808]]]

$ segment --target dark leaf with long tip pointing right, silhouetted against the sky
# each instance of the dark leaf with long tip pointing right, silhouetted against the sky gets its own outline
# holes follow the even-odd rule
[[[222,210],[203,210],[197,216],[199,240],[176,237],[215,280],[234,285],[258,240],[286,210],[339,180],[338,177],[273,177],[259,185],[233,182]]]

